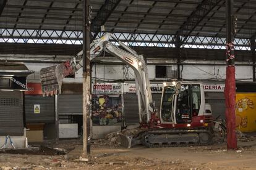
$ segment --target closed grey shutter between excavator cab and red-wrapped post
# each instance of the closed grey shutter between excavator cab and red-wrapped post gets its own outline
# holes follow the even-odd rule
[[[225,119],[225,99],[206,99],[205,102],[211,105],[213,118],[220,115],[221,119]]]

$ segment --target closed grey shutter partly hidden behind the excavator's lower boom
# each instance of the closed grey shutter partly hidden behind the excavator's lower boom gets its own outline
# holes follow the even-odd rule
[[[160,109],[161,105],[161,94],[152,94],[155,106]],[[139,123],[139,105],[138,98],[135,93],[124,94],[124,114],[126,123]]]

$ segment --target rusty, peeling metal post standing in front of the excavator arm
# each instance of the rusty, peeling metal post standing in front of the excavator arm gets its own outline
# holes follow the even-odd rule
[[[91,134],[91,68],[90,68],[90,15],[89,0],[83,0],[83,158],[90,158]]]

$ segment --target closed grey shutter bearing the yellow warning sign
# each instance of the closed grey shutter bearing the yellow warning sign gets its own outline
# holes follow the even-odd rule
[[[34,105],[40,105],[40,113],[34,112]],[[54,97],[25,95],[25,115],[27,123],[54,123]]]

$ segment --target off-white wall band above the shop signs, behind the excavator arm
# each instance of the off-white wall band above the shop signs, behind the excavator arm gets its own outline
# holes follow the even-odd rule
[[[40,82],[39,73],[43,67],[50,67],[49,63],[25,63],[28,69],[35,71],[28,76],[28,82]],[[171,69],[173,69],[173,65]],[[177,68],[177,67],[175,67]],[[96,65],[92,68],[92,77],[105,80],[115,79],[134,79],[134,71],[128,68],[127,77],[124,75],[124,65]],[[148,65],[148,75],[150,79],[155,78],[155,65]],[[236,79],[252,79],[252,67],[236,66]],[[171,77],[170,77],[171,78]],[[224,79],[226,78],[226,66],[206,66],[206,65],[184,65],[182,70],[182,78],[184,79]],[[169,79],[169,78],[165,78]],[[65,78],[64,83],[82,83],[82,69],[77,71],[74,78]]]

